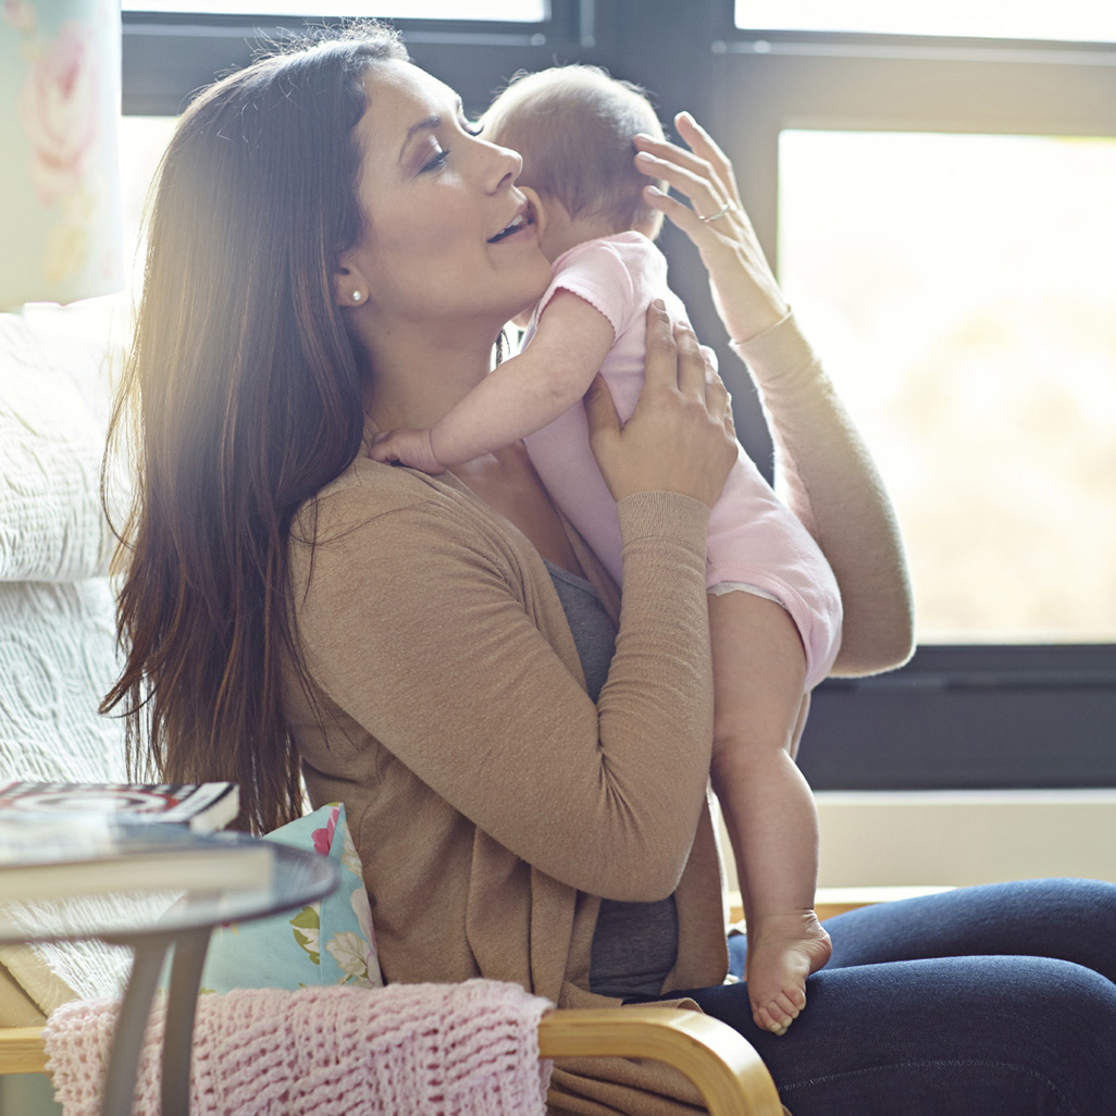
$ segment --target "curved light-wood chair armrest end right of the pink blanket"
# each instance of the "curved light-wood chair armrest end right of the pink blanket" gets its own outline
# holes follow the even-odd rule
[[[782,1116],[767,1066],[727,1023],[674,1008],[564,1009],[539,1022],[542,1058],[664,1061],[696,1086],[710,1116]]]

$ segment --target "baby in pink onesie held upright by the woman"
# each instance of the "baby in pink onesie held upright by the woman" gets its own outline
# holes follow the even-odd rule
[[[636,87],[584,66],[512,81],[482,124],[487,140],[523,157],[517,185],[554,280],[527,311],[520,355],[430,430],[381,435],[372,455],[441,472],[523,439],[551,498],[620,581],[616,508],[580,401],[599,369],[627,420],[643,384],[648,302],[661,298],[686,320],[652,243],[662,214],[633,162],[633,137],[662,138],[662,127]],[[710,514],[708,547],[711,776],[743,894],[753,1018],[781,1035],[830,953],[814,914],[814,799],[792,757],[806,694],[837,654],[840,597],[821,551],[743,450]]]

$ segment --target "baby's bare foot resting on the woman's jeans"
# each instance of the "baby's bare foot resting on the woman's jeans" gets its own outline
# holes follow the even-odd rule
[[[767,915],[748,925],[744,979],[756,1026],[785,1035],[806,1007],[806,978],[833,953],[812,911]]]

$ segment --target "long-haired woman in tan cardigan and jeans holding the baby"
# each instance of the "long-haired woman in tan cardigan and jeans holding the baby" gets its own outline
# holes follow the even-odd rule
[[[731,169],[679,129],[693,154],[647,143],[643,163],[692,209],[653,204],[702,253],[837,574],[838,667],[884,668],[911,638],[886,500],[747,221],[700,217],[739,203]],[[648,309],[647,388],[623,430],[599,385],[586,401],[623,603],[521,446],[445,478],[362,452],[378,429],[436,421],[546,286],[518,169],[376,30],[258,62],[183,117],[128,381],[129,658],[106,705],[124,703],[133,758],[237,779],[256,829],[298,812],[300,766],[312,801],[344,799],[388,980],[481,974],[564,1006],[615,1004],[595,990],[622,978],[651,988],[632,999],[690,989],[798,1116],[1112,1110],[1106,885],[1043,885],[1049,925],[1024,886],[834,920],[834,961],[783,1038],[721,987],[703,569],[731,419],[691,333],[672,339]],[[955,956],[990,953],[1033,955]],[[935,958],[953,960],[908,960]],[[564,1065],[551,1101],[679,1113],[695,1097],[613,1061]]]

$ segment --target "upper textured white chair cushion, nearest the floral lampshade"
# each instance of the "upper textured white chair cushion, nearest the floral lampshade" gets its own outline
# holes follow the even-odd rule
[[[107,391],[97,393],[97,364],[0,315],[0,581],[75,581],[107,569]]]

